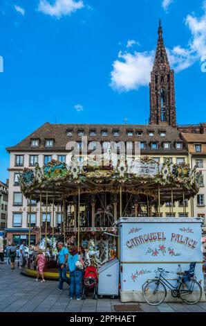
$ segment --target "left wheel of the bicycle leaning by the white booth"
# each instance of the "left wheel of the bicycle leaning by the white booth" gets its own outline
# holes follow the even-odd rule
[[[150,281],[144,286],[144,299],[151,306],[158,306],[165,300],[167,290],[164,284],[160,281]]]

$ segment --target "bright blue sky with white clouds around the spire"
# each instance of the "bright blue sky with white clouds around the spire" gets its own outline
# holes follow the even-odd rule
[[[148,121],[159,18],[178,123],[206,121],[206,1],[1,0],[1,180],[5,147],[46,121]]]

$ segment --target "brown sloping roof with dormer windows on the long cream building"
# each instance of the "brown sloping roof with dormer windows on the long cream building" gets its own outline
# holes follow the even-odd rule
[[[72,130],[72,136],[67,135],[67,130]],[[185,144],[182,150],[176,150],[176,141],[182,141],[180,132],[176,128],[168,125],[135,125],[135,124],[58,124],[58,123],[44,123],[41,127],[37,128],[28,137],[23,139],[10,148],[10,151],[65,151],[68,141],[81,141],[82,137],[78,135],[78,130],[84,130],[84,136],[87,136],[88,142],[90,141],[144,141],[146,147],[142,153],[187,153]],[[90,131],[95,130],[96,135],[91,136]],[[102,136],[102,130],[108,130],[107,136]],[[113,131],[118,130],[120,135],[115,137]],[[128,131],[133,131],[133,136],[127,135]],[[142,131],[142,135],[137,135],[137,132]],[[153,131],[153,137],[149,136],[149,132]],[[160,132],[166,132],[166,137],[161,137]],[[39,139],[39,146],[37,148],[31,147],[31,139]],[[46,139],[54,139],[52,148],[45,146]],[[158,141],[158,150],[151,150],[151,141]],[[163,142],[170,142],[171,148],[164,149]]]

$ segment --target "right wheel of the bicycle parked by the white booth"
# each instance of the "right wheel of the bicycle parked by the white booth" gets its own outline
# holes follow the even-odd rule
[[[190,280],[180,285],[180,298],[187,304],[196,304],[202,298],[203,289],[199,282]]]

